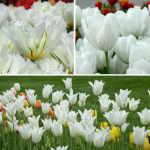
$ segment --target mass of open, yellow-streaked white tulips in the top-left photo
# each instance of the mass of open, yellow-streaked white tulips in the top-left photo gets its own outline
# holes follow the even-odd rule
[[[73,3],[0,4],[0,74],[74,72]]]

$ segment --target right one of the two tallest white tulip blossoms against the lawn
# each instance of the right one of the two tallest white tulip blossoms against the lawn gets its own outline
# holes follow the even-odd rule
[[[105,83],[103,83],[102,81],[95,80],[94,84],[92,82],[89,82],[89,84],[93,88],[94,95],[99,96],[102,93],[103,86]]]

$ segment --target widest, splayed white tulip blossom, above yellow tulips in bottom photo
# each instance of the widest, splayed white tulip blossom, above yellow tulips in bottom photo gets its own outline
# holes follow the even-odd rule
[[[111,125],[122,126],[126,122],[127,115],[128,115],[128,112],[126,112],[124,110],[119,111],[119,109],[117,109],[116,111],[112,110],[112,111],[110,111],[108,113],[105,112],[104,117],[107,118],[107,120],[109,121],[109,123]]]

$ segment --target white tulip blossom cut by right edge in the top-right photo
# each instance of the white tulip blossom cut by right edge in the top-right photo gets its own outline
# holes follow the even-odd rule
[[[139,6],[134,6],[127,13],[118,11],[116,16],[121,30],[126,35],[132,34],[135,37],[144,36],[149,30],[149,11],[146,7],[141,9]]]

